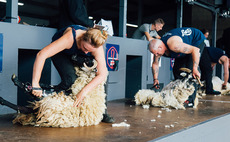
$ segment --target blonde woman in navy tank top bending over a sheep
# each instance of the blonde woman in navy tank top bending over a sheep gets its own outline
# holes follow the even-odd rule
[[[93,90],[97,85],[107,77],[108,71],[105,63],[103,44],[107,39],[107,32],[95,28],[87,29],[80,25],[71,25],[59,30],[52,38],[53,42],[38,52],[32,77],[32,94],[41,97],[39,81],[45,60],[51,57],[54,66],[61,76],[61,83],[55,88],[55,91],[68,90],[76,80],[72,55],[93,56],[97,61],[96,77],[86,85],[78,94],[73,106],[81,105],[82,100],[88,92]],[[114,122],[113,118],[107,113],[104,114],[103,122]]]

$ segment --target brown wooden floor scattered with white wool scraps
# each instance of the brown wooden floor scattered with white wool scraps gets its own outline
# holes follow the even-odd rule
[[[15,114],[9,114],[0,116],[0,142],[145,142],[230,113],[230,96],[206,96],[197,109],[171,112],[156,107],[143,109],[132,101],[117,100],[108,103],[108,112],[115,123],[125,121],[130,127],[112,127],[107,123],[78,128],[21,126],[13,125]]]

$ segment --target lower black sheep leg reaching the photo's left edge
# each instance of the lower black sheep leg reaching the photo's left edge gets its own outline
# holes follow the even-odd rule
[[[24,114],[34,112],[34,110],[32,108],[27,108],[27,107],[24,107],[24,106],[15,105],[15,104],[3,99],[2,97],[0,97],[0,104],[8,106],[8,107],[12,108],[13,110],[19,111],[20,113],[24,113]]]

